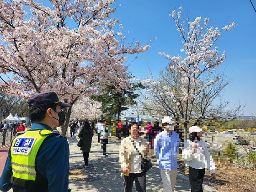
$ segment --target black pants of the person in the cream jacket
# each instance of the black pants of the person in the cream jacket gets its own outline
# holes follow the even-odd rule
[[[123,176],[124,192],[131,192],[133,189],[133,181],[135,180],[136,191],[146,191],[146,173],[130,173],[129,176]]]

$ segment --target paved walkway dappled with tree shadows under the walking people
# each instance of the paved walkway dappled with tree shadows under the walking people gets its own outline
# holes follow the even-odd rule
[[[76,133],[77,135],[77,133]],[[119,142],[109,139],[107,144],[107,156],[102,155],[101,144],[97,143],[96,134],[93,136],[91,152],[89,154],[89,168],[82,168],[84,165],[82,151],[77,147],[78,137],[69,139],[69,188],[72,192],[123,192],[123,177],[120,176],[119,165]],[[162,180],[157,162],[147,172],[147,191],[162,192]],[[135,183],[133,184],[135,192]],[[188,178],[181,174],[177,175],[175,191],[190,192]],[[214,192],[210,187],[204,186],[204,192]]]

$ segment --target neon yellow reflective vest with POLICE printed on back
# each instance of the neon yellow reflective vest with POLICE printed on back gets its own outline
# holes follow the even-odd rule
[[[30,130],[16,137],[11,144],[12,176],[36,180],[35,161],[43,141],[53,133],[48,129]]]

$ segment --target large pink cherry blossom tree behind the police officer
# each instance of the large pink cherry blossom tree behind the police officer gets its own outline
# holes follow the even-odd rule
[[[1,78],[3,91],[23,97],[55,91],[73,106],[80,96],[101,94],[107,85],[115,85],[115,92],[129,87],[126,55],[144,52],[149,45],[124,43],[122,24],[110,17],[114,0],[46,3],[0,0],[0,73],[9,78]],[[62,135],[71,111],[64,109]]]

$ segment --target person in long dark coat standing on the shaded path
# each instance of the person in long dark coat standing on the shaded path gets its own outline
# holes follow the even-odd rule
[[[78,134],[79,138],[83,139],[83,146],[80,148],[83,151],[83,156],[85,160],[85,165],[83,167],[88,167],[88,159],[89,159],[89,152],[91,150],[91,141],[93,136],[93,129],[91,129],[90,123],[85,121],[85,125],[83,126],[82,130]]]

